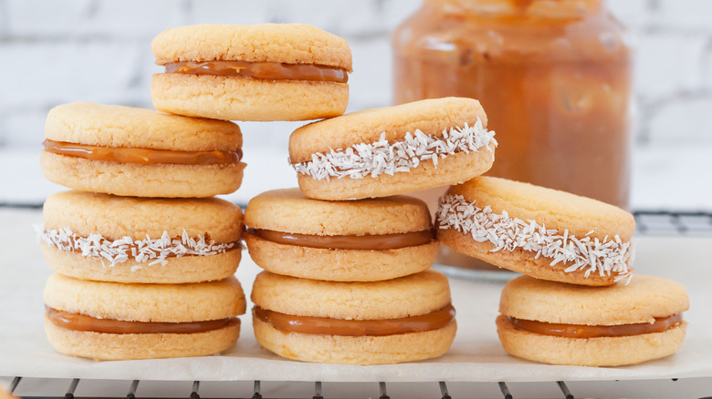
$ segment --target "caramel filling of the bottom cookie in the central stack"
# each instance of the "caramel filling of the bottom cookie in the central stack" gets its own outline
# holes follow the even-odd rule
[[[255,306],[253,317],[272,324],[277,330],[288,333],[306,333],[316,335],[364,335],[382,336],[404,333],[423,333],[445,327],[455,320],[455,308],[448,304],[445,308],[422,314],[386,320],[341,320],[268,311]]]

